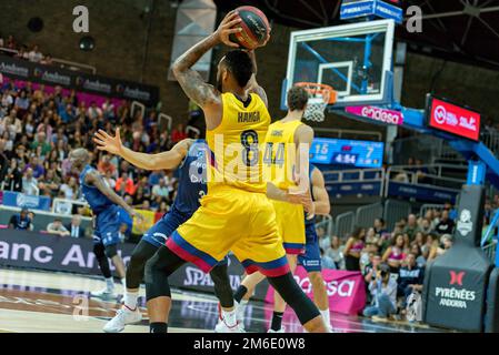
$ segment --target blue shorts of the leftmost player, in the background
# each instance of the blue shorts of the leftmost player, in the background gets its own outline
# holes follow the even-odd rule
[[[93,243],[104,246],[121,243],[119,231],[123,224],[123,209],[113,205],[97,214]]]

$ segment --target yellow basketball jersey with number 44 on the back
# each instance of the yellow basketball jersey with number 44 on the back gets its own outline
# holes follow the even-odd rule
[[[265,176],[276,186],[287,190],[296,186],[293,174],[297,165],[295,132],[301,121],[277,121],[269,126],[263,155]]]

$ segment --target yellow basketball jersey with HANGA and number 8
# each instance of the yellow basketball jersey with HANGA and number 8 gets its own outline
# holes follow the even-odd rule
[[[233,93],[222,93],[222,121],[207,132],[211,150],[208,192],[214,186],[230,185],[265,193],[262,156],[270,114],[261,98],[251,93],[248,106]]]

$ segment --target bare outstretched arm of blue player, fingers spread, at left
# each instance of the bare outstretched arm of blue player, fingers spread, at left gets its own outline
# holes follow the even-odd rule
[[[143,170],[171,170],[180,165],[189,152],[193,140],[187,139],[180,141],[168,152],[159,154],[139,153],[126,148],[121,143],[120,129],[116,130],[114,136],[99,130],[93,138],[93,142],[97,144],[98,150],[119,155],[137,168]]]

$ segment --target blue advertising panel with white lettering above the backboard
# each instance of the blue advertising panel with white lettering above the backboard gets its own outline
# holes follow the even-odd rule
[[[397,23],[402,23],[401,0],[343,0],[341,3],[341,20],[370,16],[391,19]]]

